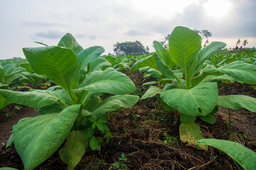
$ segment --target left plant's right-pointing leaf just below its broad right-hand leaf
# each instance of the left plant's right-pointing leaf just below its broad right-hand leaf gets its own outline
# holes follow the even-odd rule
[[[95,104],[89,111],[97,115],[104,115],[107,111],[117,111],[119,108],[130,108],[139,101],[139,96],[116,95],[110,96],[99,104]]]

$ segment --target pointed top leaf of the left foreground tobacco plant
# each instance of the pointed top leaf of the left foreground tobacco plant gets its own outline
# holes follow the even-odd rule
[[[83,50],[78,42],[75,40],[73,35],[71,35],[70,33],[66,33],[63,38],[60,39],[60,42],[58,42],[58,46],[70,48],[71,50],[73,50],[75,55],[78,55]]]

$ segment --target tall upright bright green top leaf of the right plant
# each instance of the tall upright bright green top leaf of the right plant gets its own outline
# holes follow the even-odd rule
[[[186,27],[174,28],[169,39],[169,52],[171,59],[184,70],[186,76],[190,74],[189,70],[200,49],[201,36],[198,33]]]

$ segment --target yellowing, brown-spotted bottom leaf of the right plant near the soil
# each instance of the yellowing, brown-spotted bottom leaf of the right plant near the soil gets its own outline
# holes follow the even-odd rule
[[[188,142],[188,146],[196,147],[198,140],[204,139],[200,127],[194,123],[181,123],[179,127],[181,142]],[[199,145],[201,149],[207,150],[208,147]]]

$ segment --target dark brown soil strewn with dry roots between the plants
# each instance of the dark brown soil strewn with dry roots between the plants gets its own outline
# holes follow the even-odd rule
[[[143,76],[139,72],[126,74],[137,86],[138,90],[134,94],[142,96],[149,87],[142,88],[142,84],[150,80],[143,81]],[[221,84],[219,94],[245,94],[256,98],[256,91],[253,88],[254,86],[250,84]],[[0,114],[2,113],[4,110],[0,111]],[[196,120],[204,137],[233,140],[256,151],[256,114],[245,109],[230,111],[233,132],[233,137],[230,139],[226,113],[228,113],[227,109],[220,108],[215,114],[216,123],[213,125]],[[22,117],[11,116],[9,120],[1,120],[1,128],[8,125],[11,127],[11,124],[15,124],[20,118],[34,116],[36,113],[33,108],[22,106],[17,114]],[[125,164],[124,167],[127,169],[239,169],[233,159],[218,149],[209,147],[208,151],[203,151],[182,143],[178,135],[180,123],[176,123],[174,113],[161,108],[157,96],[139,101],[132,108],[119,109],[110,116],[108,125],[113,137],[102,146],[100,152],[88,149],[75,169],[94,169],[93,166],[97,169],[97,164],[99,164],[98,169],[110,169],[110,167],[113,169],[112,164],[115,162]],[[3,137],[9,136],[10,131],[11,129],[1,129],[0,137],[4,144],[8,137]],[[170,137],[167,143],[164,143],[165,132]],[[119,160],[122,154],[127,158],[126,161]],[[23,169],[22,161],[13,145],[7,149],[4,145],[1,147],[0,167],[4,166]],[[67,168],[60,160],[57,151],[36,169]]]

